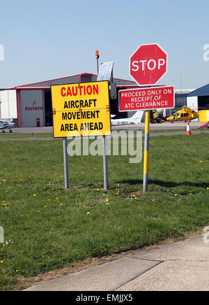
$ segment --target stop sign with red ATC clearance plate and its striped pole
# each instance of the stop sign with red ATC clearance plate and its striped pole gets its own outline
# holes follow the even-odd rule
[[[167,52],[157,43],[140,45],[130,57],[130,76],[139,86],[155,85],[167,73]],[[120,111],[146,111],[144,139],[144,183],[148,190],[148,157],[150,137],[150,110],[174,107],[174,88],[149,87],[119,92]]]

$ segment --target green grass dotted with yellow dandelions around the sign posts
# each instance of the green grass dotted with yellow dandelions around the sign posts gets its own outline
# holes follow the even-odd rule
[[[0,244],[0,290],[208,225],[208,150],[208,134],[151,138],[144,194],[143,163],[128,156],[108,157],[108,192],[102,157],[69,157],[74,188],[65,190],[61,141],[1,142],[0,225],[13,243]]]

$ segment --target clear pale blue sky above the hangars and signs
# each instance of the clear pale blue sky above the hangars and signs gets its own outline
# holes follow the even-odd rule
[[[0,88],[114,64],[114,76],[131,80],[129,58],[143,43],[159,43],[169,55],[158,85],[196,89],[209,83],[208,0],[0,0]]]

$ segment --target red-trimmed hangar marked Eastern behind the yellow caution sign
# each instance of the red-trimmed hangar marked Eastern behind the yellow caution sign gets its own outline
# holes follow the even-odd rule
[[[51,85],[95,82],[98,76],[81,73],[38,83],[0,90],[0,120],[13,120],[17,127],[44,127],[53,125]],[[113,78],[111,113],[127,118],[130,113],[118,112],[118,90],[139,87],[134,81]]]

